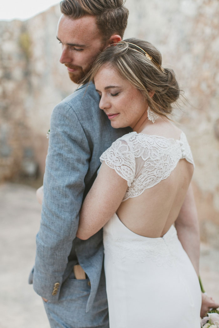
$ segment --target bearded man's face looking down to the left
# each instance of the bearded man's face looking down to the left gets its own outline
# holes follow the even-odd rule
[[[88,73],[99,52],[103,50],[102,37],[96,18],[83,16],[59,19],[57,39],[62,45],[60,62],[65,64],[70,78],[78,83]]]

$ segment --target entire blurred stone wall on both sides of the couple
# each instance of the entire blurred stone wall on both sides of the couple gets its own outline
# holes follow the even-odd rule
[[[202,239],[219,248],[219,2],[126,0],[126,37],[154,44],[186,99],[175,120],[190,142]],[[0,181],[41,174],[53,107],[75,90],[56,40],[59,6],[25,22],[0,22]]]

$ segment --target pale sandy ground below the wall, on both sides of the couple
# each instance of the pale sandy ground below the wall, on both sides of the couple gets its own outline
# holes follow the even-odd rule
[[[41,298],[28,284],[39,223],[34,188],[0,186],[0,328],[49,328]],[[208,295],[219,300],[219,251],[205,244],[200,274]]]

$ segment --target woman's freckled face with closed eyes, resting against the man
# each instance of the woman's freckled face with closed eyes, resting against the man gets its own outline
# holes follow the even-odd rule
[[[143,94],[109,64],[104,64],[94,77],[101,96],[99,107],[114,128],[134,127],[145,114],[147,103]]]

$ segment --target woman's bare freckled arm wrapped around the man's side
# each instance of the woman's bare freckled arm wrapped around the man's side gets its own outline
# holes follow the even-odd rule
[[[103,162],[82,204],[76,236],[88,239],[98,232],[117,211],[127,188],[127,181]]]

